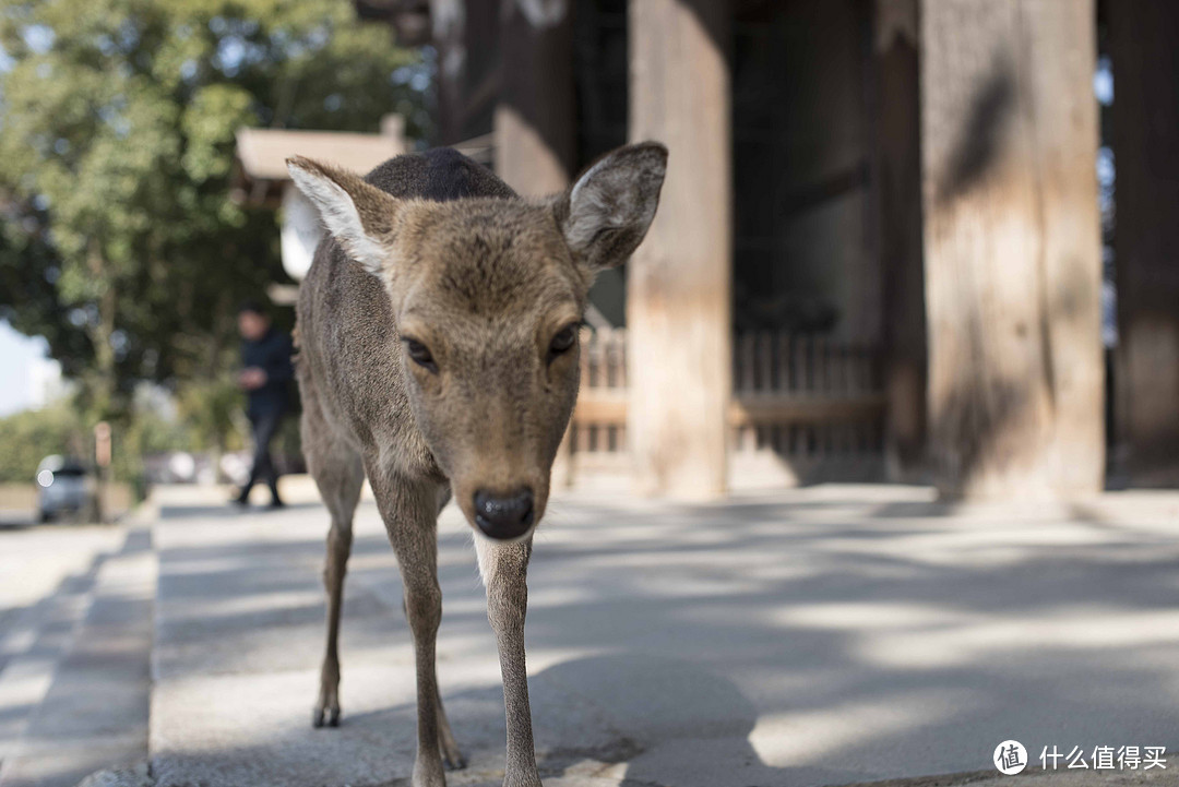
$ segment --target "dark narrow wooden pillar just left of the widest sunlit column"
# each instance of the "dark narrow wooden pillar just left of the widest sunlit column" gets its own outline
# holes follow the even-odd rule
[[[883,270],[885,472],[926,468],[926,292],[921,229],[917,0],[876,0],[872,25],[872,216]]]

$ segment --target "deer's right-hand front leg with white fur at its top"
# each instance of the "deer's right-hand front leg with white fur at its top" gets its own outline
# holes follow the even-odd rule
[[[487,586],[487,619],[495,631],[507,715],[507,765],[503,787],[541,787],[532,741],[523,620],[528,610],[528,557],[532,538],[514,543],[475,536],[479,571]]]

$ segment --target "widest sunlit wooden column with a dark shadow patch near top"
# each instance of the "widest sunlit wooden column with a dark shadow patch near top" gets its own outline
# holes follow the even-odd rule
[[[923,0],[929,419],[951,496],[1104,478],[1092,0]]]

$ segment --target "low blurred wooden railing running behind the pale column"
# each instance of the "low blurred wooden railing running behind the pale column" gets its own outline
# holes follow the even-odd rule
[[[733,456],[797,468],[882,452],[884,396],[871,346],[785,332],[738,335],[729,406]],[[582,333],[581,391],[567,443],[571,471],[626,467],[626,336]]]

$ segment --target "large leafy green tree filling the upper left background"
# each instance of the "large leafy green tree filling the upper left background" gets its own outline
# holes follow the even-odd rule
[[[210,379],[282,279],[233,198],[244,125],[422,134],[427,74],[348,0],[0,0],[0,317],[45,335],[93,416]]]

